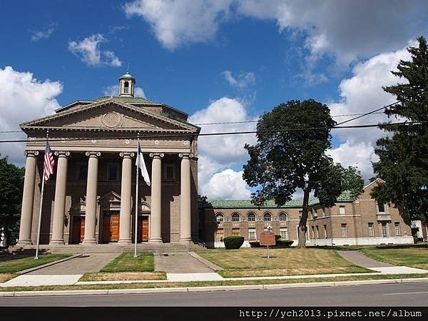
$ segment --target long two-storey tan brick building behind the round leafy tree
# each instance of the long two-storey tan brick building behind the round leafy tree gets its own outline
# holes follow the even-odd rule
[[[413,243],[409,222],[404,222],[397,208],[377,203],[370,196],[374,184],[365,186],[355,200],[342,193],[332,208],[318,200],[310,201],[307,220],[307,245],[376,245]],[[200,213],[200,234],[208,248],[224,246],[223,238],[241,235],[243,246],[258,240],[271,227],[282,240],[295,240],[302,212],[302,201],[291,200],[277,207],[273,201],[257,208],[250,200],[213,200]]]

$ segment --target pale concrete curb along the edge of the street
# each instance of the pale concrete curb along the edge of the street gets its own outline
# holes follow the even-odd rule
[[[280,290],[298,287],[338,287],[349,285],[377,285],[398,284],[411,282],[428,282],[426,277],[415,277],[413,279],[391,279],[391,280],[360,280],[340,282],[312,282],[312,283],[290,283],[270,285],[224,285],[209,287],[161,287],[152,289],[115,289],[115,290],[64,290],[64,291],[14,291],[0,292],[0,297],[39,297],[39,296],[64,296],[64,295],[114,295],[114,294],[146,294],[146,293],[168,293],[168,292],[214,292],[214,291],[238,291],[238,290]]]

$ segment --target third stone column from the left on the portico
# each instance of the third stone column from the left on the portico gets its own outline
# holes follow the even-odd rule
[[[85,217],[85,237],[83,244],[96,244],[96,194],[98,183],[98,157],[100,152],[86,152],[88,161],[88,181],[86,183],[86,217]]]

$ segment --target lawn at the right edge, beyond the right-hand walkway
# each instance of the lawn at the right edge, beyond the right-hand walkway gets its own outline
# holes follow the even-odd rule
[[[360,252],[374,260],[428,270],[428,248],[362,248]]]

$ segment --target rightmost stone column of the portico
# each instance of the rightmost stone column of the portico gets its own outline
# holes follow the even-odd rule
[[[181,158],[180,178],[180,242],[192,240],[192,220],[190,209],[190,159],[189,154],[179,154]]]

